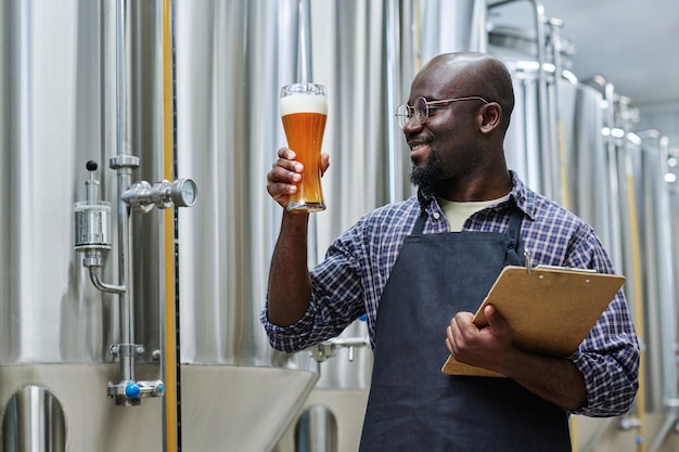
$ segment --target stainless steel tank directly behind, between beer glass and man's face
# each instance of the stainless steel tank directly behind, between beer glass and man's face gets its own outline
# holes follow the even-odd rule
[[[331,95],[324,139],[331,167],[323,178],[329,208],[313,218],[311,262],[361,215],[414,194],[409,150],[393,115],[428,59],[444,51],[478,50],[483,3],[311,2],[312,41],[319,49],[313,76]],[[338,338],[310,350],[320,361],[319,382],[276,452],[357,450],[372,371],[367,345],[364,322],[357,321]]]

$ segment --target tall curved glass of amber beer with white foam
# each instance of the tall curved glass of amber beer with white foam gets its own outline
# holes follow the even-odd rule
[[[287,210],[324,210],[321,144],[328,119],[328,90],[318,83],[286,85],[281,89],[280,108],[287,147],[304,165],[302,182],[291,195]]]

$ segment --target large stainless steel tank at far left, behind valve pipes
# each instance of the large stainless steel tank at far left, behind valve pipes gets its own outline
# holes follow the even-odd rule
[[[289,33],[297,14],[292,1],[2,3],[0,31],[11,42],[0,49],[3,451],[178,443],[187,451],[267,451],[300,408],[317,364],[272,352],[258,322],[279,220],[264,177],[280,138],[279,77],[299,60]],[[163,82],[167,24],[176,44],[171,90]],[[176,122],[163,109],[166,99]],[[176,144],[169,154],[168,143]],[[134,296],[126,328],[143,348],[116,351],[134,353],[140,380],[164,379],[174,361],[181,384],[180,393],[167,386],[166,397],[136,406],[107,397],[127,357],[110,348],[120,343],[123,311],[117,295],[94,288],[73,238],[74,204],[90,177],[118,216],[108,167],[120,146],[139,158],[132,180],[164,179],[169,166],[200,190],[194,210],[177,212],[169,234],[172,209],[131,214],[133,282],[125,285]],[[88,160],[99,163],[93,176]],[[119,229],[114,220],[112,236]],[[105,282],[120,276],[115,242]],[[166,323],[175,304],[178,332]],[[178,339],[177,349],[167,338]]]

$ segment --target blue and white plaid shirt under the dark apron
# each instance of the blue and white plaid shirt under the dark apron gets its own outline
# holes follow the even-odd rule
[[[507,232],[510,203],[516,203],[525,214],[521,238],[533,266],[614,273],[589,224],[528,189],[514,172],[512,180],[510,199],[472,215],[464,231]],[[367,314],[374,348],[380,297],[421,208],[427,215],[423,233],[449,231],[436,198],[422,193],[366,215],[330,246],[325,259],[311,270],[311,300],[297,323],[287,327],[269,323],[265,306],[261,323],[271,346],[285,352],[298,351],[337,336]],[[623,290],[569,359],[585,375],[587,385],[587,404],[574,414],[612,416],[629,410],[638,389],[639,344]]]

